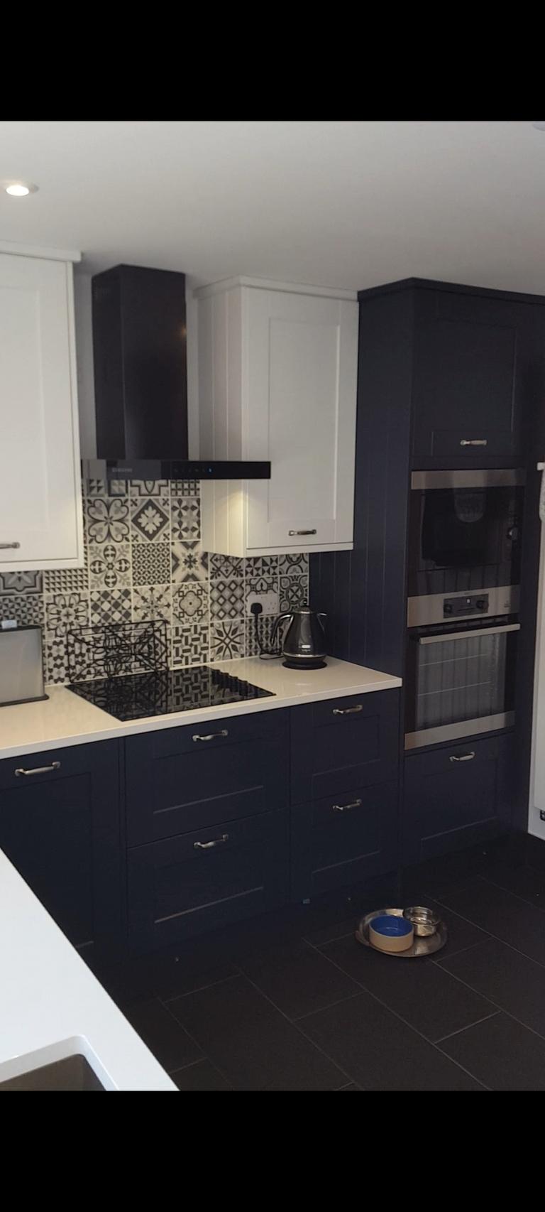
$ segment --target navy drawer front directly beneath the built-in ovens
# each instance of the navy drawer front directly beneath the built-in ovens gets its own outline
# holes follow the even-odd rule
[[[448,745],[405,764],[403,863],[484,841],[509,824],[512,736]]]

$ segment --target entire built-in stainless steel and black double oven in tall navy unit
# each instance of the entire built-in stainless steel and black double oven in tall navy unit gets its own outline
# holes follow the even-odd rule
[[[405,748],[510,727],[524,476],[413,471]]]

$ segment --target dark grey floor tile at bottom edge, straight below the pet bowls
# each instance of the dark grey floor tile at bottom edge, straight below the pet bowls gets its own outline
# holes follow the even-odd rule
[[[321,1010],[300,1025],[363,1090],[482,1090],[368,993]]]

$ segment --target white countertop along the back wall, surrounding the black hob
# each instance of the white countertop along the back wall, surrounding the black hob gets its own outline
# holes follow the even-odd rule
[[[309,669],[303,673],[285,669],[280,657],[274,661],[248,657],[241,661],[214,662],[212,668],[271,691],[274,697],[121,721],[64,686],[47,686],[50,697],[45,702],[0,707],[0,760],[39,753],[42,749],[58,749],[91,741],[151,732],[155,728],[173,728],[180,724],[199,724],[207,718],[219,720],[229,715],[270,711],[280,707],[298,707],[303,703],[319,703],[327,698],[367,694],[401,686],[400,678],[379,673],[377,669],[367,669],[365,665],[352,665],[335,657],[327,658],[325,669]]]

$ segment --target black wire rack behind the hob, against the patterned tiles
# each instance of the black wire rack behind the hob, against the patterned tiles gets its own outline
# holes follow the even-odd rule
[[[74,627],[67,633],[67,658],[71,682],[167,670],[167,625],[148,619]]]

